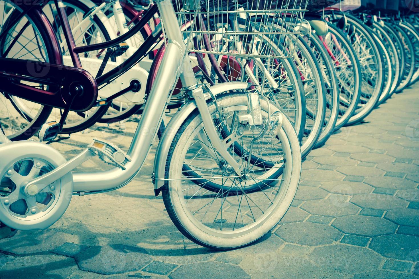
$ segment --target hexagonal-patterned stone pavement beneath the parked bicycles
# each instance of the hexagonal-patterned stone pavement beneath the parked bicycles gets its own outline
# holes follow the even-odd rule
[[[152,153],[126,187],[75,196],[51,228],[0,241],[0,277],[418,278],[418,88],[312,151],[290,210],[258,243],[218,252],[183,238],[153,195]],[[92,137],[126,148],[134,124],[53,146],[68,158]],[[106,167],[94,160],[82,169]]]

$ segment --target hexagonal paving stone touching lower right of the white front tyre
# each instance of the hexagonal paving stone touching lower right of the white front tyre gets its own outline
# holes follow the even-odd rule
[[[333,243],[343,235],[329,225],[311,222],[281,225],[275,234],[287,242],[308,246]]]

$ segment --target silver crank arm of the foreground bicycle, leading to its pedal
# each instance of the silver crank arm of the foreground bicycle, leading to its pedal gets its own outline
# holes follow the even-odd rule
[[[61,166],[57,167],[56,169],[53,169],[47,174],[44,174],[36,179],[27,182],[24,188],[25,192],[31,196],[37,195],[44,188],[48,187],[50,184],[57,181],[65,174],[69,173],[73,169],[83,164],[83,162],[93,158],[94,156],[96,156],[96,153],[86,148],[73,159],[67,161],[65,164],[62,164]]]

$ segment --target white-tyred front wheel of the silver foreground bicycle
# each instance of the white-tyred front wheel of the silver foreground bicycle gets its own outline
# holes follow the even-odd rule
[[[247,106],[246,95],[240,93],[226,94],[217,100],[224,110]],[[215,105],[210,103],[209,110],[216,113]],[[167,180],[162,191],[167,212],[178,230],[199,245],[217,249],[245,246],[272,230],[291,205],[301,172],[297,135],[284,117],[275,148],[276,152],[281,152],[281,176],[261,186],[259,191],[246,192],[242,189],[246,183],[253,182],[255,174],[250,173],[246,178],[229,174],[220,159],[205,153],[207,143],[202,142],[202,132],[202,119],[196,111],[176,133],[168,154]],[[240,160],[238,158],[238,162]],[[214,192],[207,189],[205,183],[195,184],[188,176],[190,171],[184,171],[185,164],[205,173],[207,181],[223,187]]]

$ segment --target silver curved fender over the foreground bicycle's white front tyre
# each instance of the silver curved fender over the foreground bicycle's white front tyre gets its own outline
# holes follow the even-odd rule
[[[213,95],[218,95],[222,92],[230,90],[244,90],[249,87],[247,82],[223,82],[209,87]],[[204,95],[205,100],[209,100],[211,95],[208,93]],[[191,100],[181,110],[179,110],[169,121],[166,129],[163,132],[163,136],[160,138],[160,142],[157,146],[156,154],[154,157],[154,171],[153,171],[153,184],[154,194],[158,196],[162,187],[164,186],[164,174],[166,169],[167,156],[169,154],[169,148],[173,142],[176,133],[184,123],[186,118],[197,108],[194,100]]]

